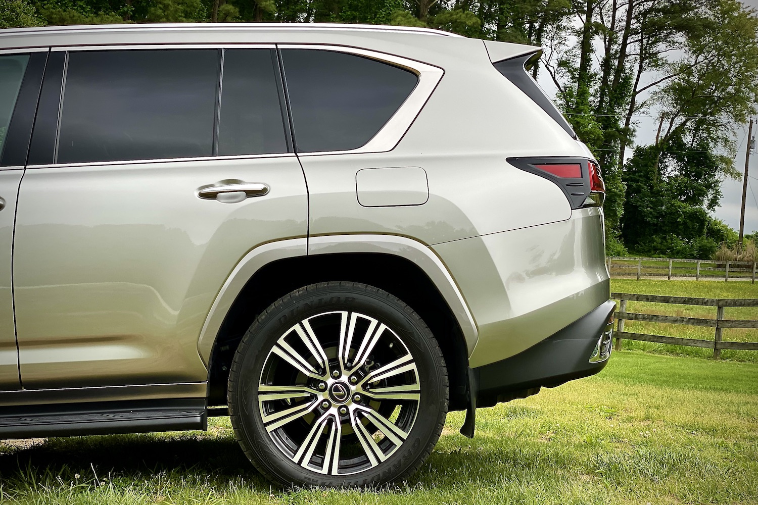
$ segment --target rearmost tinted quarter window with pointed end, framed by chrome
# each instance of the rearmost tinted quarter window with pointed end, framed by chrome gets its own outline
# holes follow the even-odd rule
[[[282,58],[301,152],[361,147],[418,82],[408,70],[340,52],[284,49]]]

